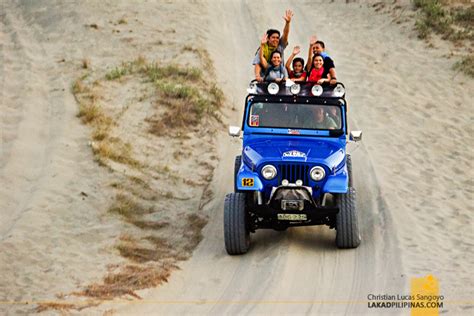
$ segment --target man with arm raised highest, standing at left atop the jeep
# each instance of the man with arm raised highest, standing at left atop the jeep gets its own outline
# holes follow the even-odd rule
[[[270,63],[270,56],[275,50],[278,50],[281,53],[281,59],[284,61],[284,55],[283,52],[288,46],[288,34],[290,33],[290,23],[291,23],[291,18],[293,17],[293,11],[291,10],[286,10],[285,11],[285,16],[283,19],[285,20],[285,27],[283,28],[283,36],[280,37],[280,31],[275,30],[275,29],[269,29],[266,33],[267,36],[267,43],[263,47],[263,56],[267,60],[268,63]],[[254,65],[255,68],[255,79],[257,79],[258,82],[263,81],[263,68],[260,63],[260,49],[257,50],[255,53],[255,58],[252,62],[252,65]]]

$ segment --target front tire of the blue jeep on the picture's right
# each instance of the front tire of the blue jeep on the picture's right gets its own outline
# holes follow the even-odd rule
[[[339,194],[337,204],[339,213],[336,215],[336,246],[338,248],[357,248],[360,245],[360,233],[355,189],[349,187],[346,194]]]

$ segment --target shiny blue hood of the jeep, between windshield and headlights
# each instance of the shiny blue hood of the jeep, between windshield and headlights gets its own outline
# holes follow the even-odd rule
[[[252,169],[266,162],[325,165],[330,170],[338,169],[344,161],[344,143],[336,139],[296,138],[254,139],[245,144],[244,162]]]

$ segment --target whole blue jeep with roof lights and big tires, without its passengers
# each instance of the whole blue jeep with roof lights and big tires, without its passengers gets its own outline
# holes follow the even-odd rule
[[[328,225],[339,248],[360,244],[342,83],[251,82],[245,101],[242,155],[235,158],[234,193],[225,197],[224,239],[231,255],[246,253],[250,233]]]

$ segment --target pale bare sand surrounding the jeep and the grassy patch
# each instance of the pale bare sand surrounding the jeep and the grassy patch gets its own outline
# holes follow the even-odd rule
[[[351,128],[364,131],[351,148],[362,245],[338,251],[324,227],[259,231],[247,255],[227,256],[223,197],[240,143],[222,130],[214,198],[203,208],[209,223],[193,257],[167,284],[140,291],[143,300],[84,313],[380,314],[367,309],[368,294],[407,294],[410,279],[427,274],[439,279],[449,314],[472,310],[474,81],[450,70],[449,44],[430,48],[403,12],[357,2],[111,3],[2,10],[1,308],[54,299],[124,260],[113,251],[123,223],[104,216],[111,175],[94,163],[88,129],[75,117],[70,85],[81,60],[103,68],[144,52],[173,60],[171,48],[196,41],[218,70],[226,123],[238,125],[259,38],[282,27],[288,7],[295,11],[289,47],[306,47],[313,33],[326,42],[347,87]],[[123,16],[126,26],[109,23]],[[92,23],[97,30],[86,27]]]

